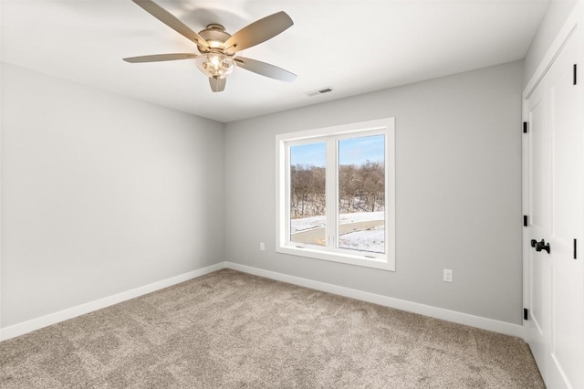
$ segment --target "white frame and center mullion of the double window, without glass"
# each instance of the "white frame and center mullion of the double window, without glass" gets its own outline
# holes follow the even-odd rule
[[[371,253],[339,248],[331,237],[330,226],[338,230],[339,214],[338,142],[327,143],[327,207],[331,204],[337,212],[327,212],[327,247],[299,244],[290,241],[290,146],[308,142],[326,142],[331,137],[346,139],[355,136],[385,135],[385,253]],[[333,144],[333,146],[331,146]],[[331,152],[333,153],[331,155]],[[334,163],[332,163],[332,162]],[[332,165],[331,165],[332,163]],[[332,202],[332,203],[329,203]],[[333,214],[333,215],[330,215]],[[324,259],[367,268],[395,271],[395,119],[362,121],[308,131],[288,132],[276,135],[276,252],[307,258]]]

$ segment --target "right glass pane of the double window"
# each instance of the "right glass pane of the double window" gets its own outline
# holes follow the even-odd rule
[[[339,141],[339,247],[385,252],[385,137]]]

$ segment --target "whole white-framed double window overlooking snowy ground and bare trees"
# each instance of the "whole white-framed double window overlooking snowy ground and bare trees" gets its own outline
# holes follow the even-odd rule
[[[395,269],[394,120],[276,136],[276,250]]]

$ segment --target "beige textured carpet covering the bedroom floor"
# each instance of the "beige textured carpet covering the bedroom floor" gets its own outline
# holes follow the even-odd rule
[[[221,270],[0,343],[2,388],[543,388],[518,338]]]

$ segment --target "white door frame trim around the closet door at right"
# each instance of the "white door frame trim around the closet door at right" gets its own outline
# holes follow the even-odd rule
[[[541,60],[537,69],[531,79],[527,82],[526,88],[523,90],[522,95],[522,120],[524,122],[528,121],[528,106],[527,100],[531,97],[531,94],[535,91],[541,80],[546,76],[547,70],[551,68],[552,64],[558,58],[559,53],[561,50],[566,46],[568,43],[568,39],[576,32],[576,27],[581,25],[584,26],[584,5],[581,4],[582,2],[579,1],[576,5],[574,5],[574,9],[564,22],[564,25],[559,30],[558,35],[554,39],[553,43],[550,47],[547,48],[546,55]],[[578,34],[584,34],[584,32],[578,31]],[[584,39],[580,39],[580,45],[582,47],[578,50],[579,51],[579,63],[583,64],[584,68]],[[583,81],[584,82],[584,79]],[[527,129],[528,131],[528,129]],[[529,170],[531,169],[530,165],[530,155],[528,153],[529,150],[529,136],[522,136],[521,140],[521,149],[522,149],[522,156],[521,156],[521,209],[524,216],[527,216],[527,228],[530,225],[530,215],[531,215],[531,199],[529,198]],[[584,218],[584,215],[582,215]],[[523,260],[523,307],[524,309],[531,310],[529,305],[530,295],[529,295],[529,261],[528,255],[529,250],[532,249],[528,247],[528,229],[526,227],[523,228],[522,232],[522,260]],[[527,341],[527,326],[526,320],[524,317],[523,320],[523,339]]]

